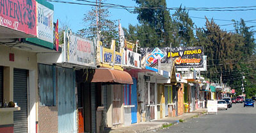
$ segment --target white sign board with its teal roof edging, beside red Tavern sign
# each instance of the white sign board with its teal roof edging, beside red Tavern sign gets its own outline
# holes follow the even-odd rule
[[[53,13],[54,6],[44,0],[36,0],[37,4],[37,38],[26,38],[28,42],[33,42],[44,47],[53,49]]]

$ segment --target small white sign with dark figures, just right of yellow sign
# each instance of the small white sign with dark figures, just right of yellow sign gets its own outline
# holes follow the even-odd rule
[[[126,67],[141,69],[141,54],[138,54],[136,52],[133,52],[127,49],[127,51],[124,51],[124,55],[125,55],[124,65]]]

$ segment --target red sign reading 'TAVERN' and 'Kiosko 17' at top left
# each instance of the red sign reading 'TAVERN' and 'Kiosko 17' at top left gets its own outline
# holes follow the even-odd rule
[[[0,0],[0,26],[36,36],[36,0]]]

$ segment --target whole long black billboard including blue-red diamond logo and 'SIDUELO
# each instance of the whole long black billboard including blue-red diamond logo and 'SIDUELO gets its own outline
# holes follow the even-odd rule
[[[171,63],[170,47],[157,48],[159,58],[152,55],[155,49],[150,47],[140,48],[143,64],[154,63],[157,59],[160,59],[161,63]],[[195,68],[196,71],[207,70],[207,56],[204,56],[203,47],[175,47],[172,48],[172,57],[178,71],[188,71],[189,68]]]

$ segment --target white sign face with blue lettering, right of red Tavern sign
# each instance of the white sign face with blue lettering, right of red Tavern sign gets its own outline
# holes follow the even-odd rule
[[[38,38],[53,43],[53,27],[53,10],[37,3]]]

